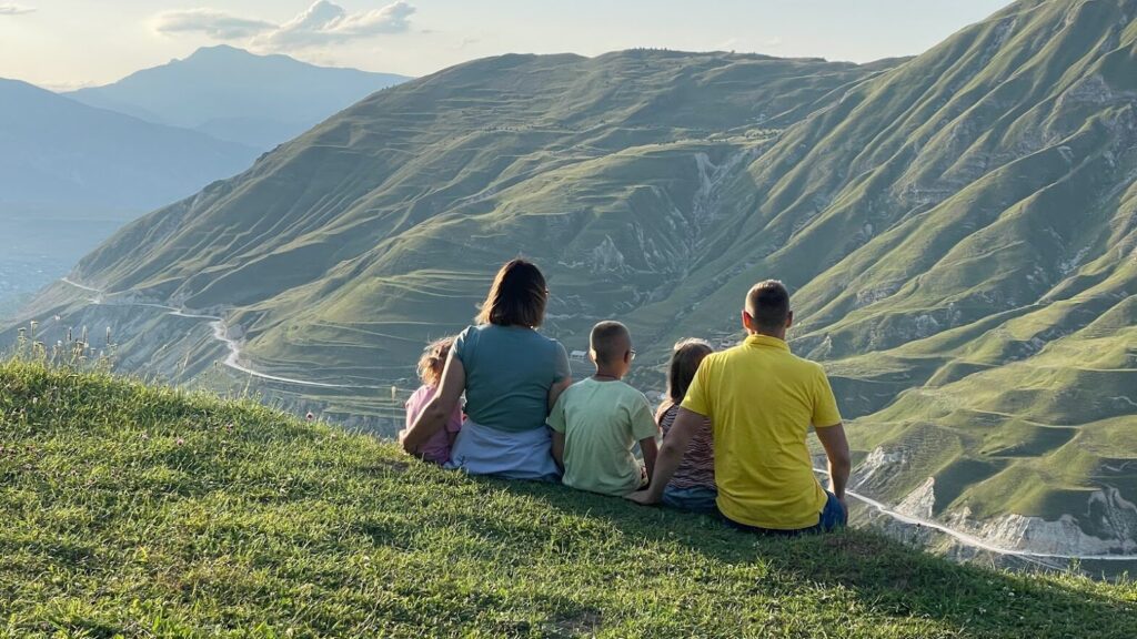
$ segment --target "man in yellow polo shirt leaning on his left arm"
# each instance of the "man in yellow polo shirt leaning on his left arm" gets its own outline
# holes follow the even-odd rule
[[[829,531],[845,525],[850,457],[837,400],[820,364],[786,345],[794,323],[781,282],[760,282],[746,296],[735,348],[707,356],[663,440],[650,487],[629,498],[656,504],[704,418],[714,437],[719,511],[757,532]],[[829,457],[830,490],[813,474],[806,435],[813,426]]]

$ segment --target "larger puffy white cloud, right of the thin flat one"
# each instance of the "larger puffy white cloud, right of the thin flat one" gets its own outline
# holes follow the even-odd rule
[[[349,14],[329,0],[316,0],[308,10],[284,23],[280,28],[256,38],[252,44],[262,49],[291,49],[335,44],[410,28],[415,8],[402,0],[380,9]]]

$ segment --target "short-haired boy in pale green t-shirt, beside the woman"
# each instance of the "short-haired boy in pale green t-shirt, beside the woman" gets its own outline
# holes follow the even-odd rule
[[[652,476],[659,430],[644,393],[621,381],[636,357],[628,327],[600,322],[589,345],[596,374],[561,393],[549,415],[553,457],[565,486],[620,497]],[[646,473],[632,455],[637,441]]]

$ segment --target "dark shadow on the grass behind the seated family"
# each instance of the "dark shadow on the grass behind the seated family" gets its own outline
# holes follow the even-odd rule
[[[790,596],[795,583],[840,586],[855,592],[866,609],[939,620],[961,633],[1137,637],[1137,599],[1109,598],[1086,582],[954,563],[875,532],[762,537],[736,531],[712,516],[640,507],[556,484],[476,481],[540,499],[562,512],[603,518],[646,541],[682,545],[724,564],[761,559],[770,569],[771,587]]]

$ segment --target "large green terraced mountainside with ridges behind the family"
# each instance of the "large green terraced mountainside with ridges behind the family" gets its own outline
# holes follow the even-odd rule
[[[258,371],[338,410],[410,373],[518,252],[547,330],[653,360],[795,290],[857,489],[1009,547],[1137,551],[1137,1],[1028,0],[910,60],[507,56],[384,91],[124,230],[33,312],[127,367]],[[641,362],[641,360],[638,360]],[[657,370],[637,381],[657,388]]]

